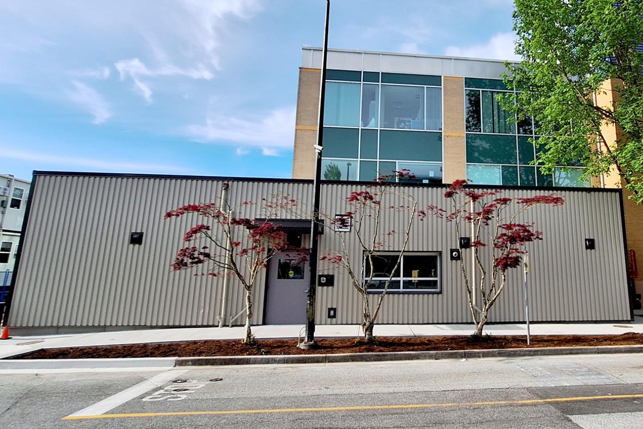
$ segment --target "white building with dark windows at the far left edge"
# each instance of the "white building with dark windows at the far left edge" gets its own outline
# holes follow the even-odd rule
[[[29,197],[30,181],[0,174],[0,287],[13,271]]]

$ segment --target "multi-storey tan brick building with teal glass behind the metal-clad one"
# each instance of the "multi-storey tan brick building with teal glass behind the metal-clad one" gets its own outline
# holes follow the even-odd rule
[[[321,78],[321,49],[304,47],[299,73],[293,178],[314,177]],[[435,55],[329,50],[323,130],[322,179],[368,181],[409,169],[417,181],[480,185],[623,188],[614,171],[592,183],[578,164],[543,174],[530,163],[539,148],[532,120],[507,123],[498,96],[508,89],[500,60]],[[613,108],[617,82],[605,82],[597,104]],[[605,125],[613,147],[619,131]],[[567,167],[566,169],[563,167]],[[638,233],[643,208],[625,191],[631,276],[637,292]],[[637,256],[638,255],[638,256]],[[643,276],[642,276],[643,277]]]

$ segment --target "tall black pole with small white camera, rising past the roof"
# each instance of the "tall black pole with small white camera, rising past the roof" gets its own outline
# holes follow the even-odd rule
[[[317,123],[317,144],[315,147],[315,179],[313,183],[312,223],[311,223],[311,261],[310,286],[306,306],[306,341],[304,347],[310,347],[315,342],[315,295],[317,289],[317,261],[319,259],[319,228],[320,228],[320,180],[321,180],[321,149],[323,148],[323,105],[326,95],[326,58],[328,55],[328,23],[331,14],[331,0],[326,0],[326,25],[323,33],[323,51],[321,55],[321,83],[319,120]]]

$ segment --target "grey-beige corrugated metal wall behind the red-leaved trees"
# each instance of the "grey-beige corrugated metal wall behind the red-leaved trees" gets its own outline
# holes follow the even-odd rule
[[[123,176],[36,176],[37,186],[17,277],[11,324],[17,327],[215,325],[221,302],[221,278],[174,272],[170,263],[183,247],[194,217],[163,220],[163,214],[187,203],[218,201],[222,179]],[[322,187],[322,210],[348,210],[345,196],[363,185]],[[407,187],[420,206],[442,205],[444,188]],[[311,183],[243,180],[230,182],[230,203],[260,201],[290,194],[311,201]],[[505,190],[509,197],[532,196],[538,190]],[[532,320],[627,320],[626,268],[620,218],[620,194],[597,190],[561,190],[566,204],[541,206],[524,221],[535,221],[544,241],[529,245],[532,271]],[[300,204],[305,208],[305,203]],[[445,207],[446,208],[446,207]],[[244,206],[244,217],[262,217],[258,206]],[[282,214],[280,217],[289,217]],[[400,230],[393,217],[382,231]],[[142,246],[129,244],[129,233],[145,232]],[[349,246],[353,235],[347,233]],[[596,250],[584,249],[595,238]],[[399,235],[388,248],[395,249]],[[320,250],[340,244],[336,233],[321,237]],[[428,217],[417,222],[408,250],[442,252],[442,293],[390,295],[381,323],[469,322],[466,291],[459,265],[449,260],[457,247],[444,221]],[[353,257],[359,260],[359,249]],[[468,257],[468,251],[463,251]],[[468,265],[468,262],[467,262]],[[359,296],[348,278],[335,273],[334,287],[318,289],[318,323],[359,323]],[[257,280],[255,324],[262,323],[265,278]],[[233,282],[230,315],[243,308],[243,289]],[[377,295],[373,295],[375,299]],[[327,320],[327,307],[337,307]],[[523,320],[522,280],[512,270],[509,284],[493,309],[491,320]]]

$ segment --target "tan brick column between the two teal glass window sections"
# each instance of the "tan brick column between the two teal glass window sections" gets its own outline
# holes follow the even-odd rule
[[[467,177],[464,141],[464,78],[445,76],[442,80],[442,182]]]

